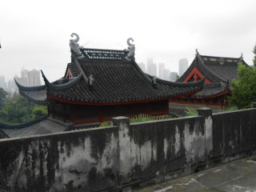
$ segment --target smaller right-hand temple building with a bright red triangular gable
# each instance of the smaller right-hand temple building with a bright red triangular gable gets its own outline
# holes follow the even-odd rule
[[[171,99],[171,103],[203,106],[227,106],[227,96],[232,94],[232,80],[238,79],[238,63],[248,66],[240,58],[221,58],[198,53],[186,72],[177,82],[197,82],[206,78],[202,90],[186,97]],[[250,66],[248,66],[250,67]]]

